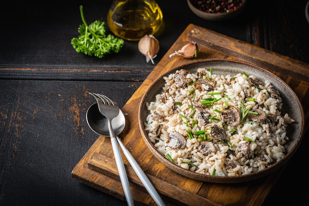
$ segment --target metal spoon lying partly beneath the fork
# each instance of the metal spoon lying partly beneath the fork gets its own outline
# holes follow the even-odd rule
[[[105,116],[103,116],[100,113],[97,103],[90,105],[90,107],[88,108],[87,113],[86,113],[86,120],[87,120],[88,126],[94,133],[105,136],[105,137],[110,137],[109,128],[108,128],[108,120]],[[120,109],[119,109],[118,116],[116,116],[112,120],[112,127],[113,127],[113,130],[116,136],[119,135],[125,127],[125,117]],[[149,180],[145,172],[136,162],[136,160],[131,155],[129,150],[127,150],[127,148],[124,146],[120,138],[119,137],[116,137],[116,138],[125,157],[129,161],[133,170],[136,172],[137,176],[140,178],[140,180],[144,184],[145,188],[147,189],[151,197],[154,199],[154,202],[158,206],[165,206],[164,202],[162,201],[161,197],[155,190],[154,185],[151,183],[151,181]]]

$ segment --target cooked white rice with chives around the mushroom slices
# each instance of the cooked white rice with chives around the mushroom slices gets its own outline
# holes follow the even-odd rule
[[[211,69],[200,68],[196,73],[185,72],[185,83],[181,86],[174,79],[180,71],[165,76],[162,88],[164,92],[156,95],[155,102],[146,103],[150,114],[144,123],[145,130],[161,154],[170,157],[170,161],[182,168],[218,176],[237,176],[261,171],[284,157],[284,144],[289,139],[286,136],[286,123],[293,123],[294,120],[288,114],[281,115],[282,100],[268,80],[263,81],[263,85],[254,86],[249,81],[249,77],[257,80],[254,75],[248,77],[245,73],[238,73],[223,76],[216,75],[215,70],[212,72]],[[206,84],[197,87],[194,82],[201,79],[215,80],[213,89]],[[277,94],[276,97],[270,97],[271,88]],[[208,95],[213,92],[221,94]],[[216,99],[213,103],[200,105],[207,98]],[[243,105],[247,109],[252,106],[250,111],[261,109],[267,118],[253,123],[249,121],[249,115],[246,115],[239,124],[231,126],[223,122],[220,113],[228,105],[237,108],[239,114]],[[209,113],[210,119],[205,125],[197,120],[196,115],[200,110],[196,107]],[[211,137],[214,125],[224,130],[226,138],[215,141]],[[194,135],[194,132],[203,130],[204,136]],[[191,138],[189,131],[189,135],[193,135]],[[168,146],[172,132],[185,138],[183,148]],[[214,150],[203,154],[199,150],[203,141],[212,142]]]

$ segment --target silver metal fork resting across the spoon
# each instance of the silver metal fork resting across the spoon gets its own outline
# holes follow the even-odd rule
[[[123,161],[122,161],[122,158],[121,158],[120,150],[119,150],[119,147],[118,147],[118,144],[117,144],[117,139],[115,137],[115,133],[114,133],[114,130],[112,128],[112,119],[114,119],[116,116],[118,116],[119,106],[115,101],[113,101],[112,99],[108,98],[105,95],[90,93],[90,92],[89,92],[89,94],[92,95],[96,99],[96,101],[99,105],[100,113],[108,119],[112,147],[113,147],[116,165],[117,165],[117,169],[118,169],[118,172],[119,172],[120,181],[121,181],[121,184],[122,184],[122,187],[123,187],[124,195],[125,195],[125,198],[126,198],[128,205],[134,206],[134,201],[133,201],[132,193],[131,193],[131,190],[130,190],[128,176],[125,172],[125,168],[124,168],[124,164],[123,164]]]

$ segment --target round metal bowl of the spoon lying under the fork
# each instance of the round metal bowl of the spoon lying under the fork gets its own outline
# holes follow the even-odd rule
[[[86,120],[94,133],[104,137],[110,137],[108,119],[100,113],[97,103],[93,103],[89,106],[86,113]],[[120,109],[118,116],[112,120],[112,127],[116,136],[119,135],[125,127],[125,117]]]

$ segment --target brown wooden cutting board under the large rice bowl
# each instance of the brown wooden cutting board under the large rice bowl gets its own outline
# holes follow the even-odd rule
[[[189,41],[195,41],[199,46],[197,58],[185,59],[177,55],[172,58],[169,57],[170,54],[181,49]],[[308,106],[305,106],[309,105],[308,64],[190,24],[123,106],[122,111],[126,114],[127,125],[119,137],[153,182],[167,206],[260,206],[276,182],[280,171],[257,180],[236,184],[218,184],[193,180],[173,172],[160,163],[146,146],[139,131],[138,105],[152,82],[159,75],[176,66],[211,58],[253,63],[279,76],[299,97],[305,112],[305,131],[308,129],[309,109]],[[122,158],[136,205],[155,205],[127,159],[123,155]],[[110,138],[100,136],[94,142],[73,169],[72,177],[124,200]]]

